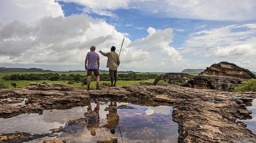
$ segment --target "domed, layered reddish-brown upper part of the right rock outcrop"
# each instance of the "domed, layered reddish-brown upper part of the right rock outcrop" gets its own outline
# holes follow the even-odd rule
[[[216,75],[216,76],[231,76],[234,78],[251,79],[255,75],[248,69],[238,67],[234,63],[220,62],[207,67],[199,75]]]

